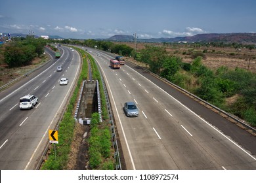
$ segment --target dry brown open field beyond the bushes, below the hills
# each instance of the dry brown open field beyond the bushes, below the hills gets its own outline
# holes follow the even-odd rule
[[[135,48],[134,42],[115,43],[127,44],[127,46],[131,46],[131,48]],[[146,45],[164,46],[161,43],[137,42],[137,51],[145,48]],[[182,58],[182,61],[186,63],[191,63],[193,61],[193,58],[191,57],[192,52],[202,52],[205,55],[203,65],[209,69],[215,70],[221,66],[226,66],[230,69],[238,67],[256,73],[256,49],[249,50],[247,48],[241,48],[238,51],[231,47],[195,47],[193,44],[165,45],[165,48],[169,55],[179,56]]]

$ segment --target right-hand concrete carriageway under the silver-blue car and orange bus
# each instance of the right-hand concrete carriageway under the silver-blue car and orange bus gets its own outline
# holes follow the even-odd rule
[[[108,88],[127,169],[256,169],[253,135],[135,65],[114,70],[108,54],[88,50]],[[125,116],[126,101],[137,103],[139,117]]]

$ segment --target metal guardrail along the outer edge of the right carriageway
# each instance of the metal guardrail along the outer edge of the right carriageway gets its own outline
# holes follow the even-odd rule
[[[129,61],[129,60],[128,60],[128,61]],[[131,62],[131,63],[133,63],[133,62]],[[134,64],[134,65],[137,65],[136,63],[133,63],[133,64]],[[140,65],[137,65],[137,66],[138,66],[138,67],[141,67]],[[144,67],[142,67],[142,68],[145,69]],[[212,110],[214,109],[215,112],[218,113],[218,114],[220,114],[221,116],[223,116],[223,118],[226,118],[227,120],[229,120],[229,121],[231,121],[231,122],[233,122],[233,123],[235,123],[235,124],[240,124],[240,125],[242,125],[242,127],[243,127],[244,129],[247,129],[247,131],[248,131],[249,133],[252,133],[253,135],[256,135],[256,129],[255,129],[254,127],[251,127],[251,126],[248,125],[248,124],[245,124],[244,122],[242,122],[242,120],[238,119],[238,117],[233,116],[232,114],[229,114],[228,112],[222,110],[221,108],[218,108],[218,107],[216,107],[216,106],[214,106],[214,105],[211,105],[211,104],[208,103],[207,101],[204,101],[203,99],[201,99],[200,97],[194,95],[193,93],[190,93],[190,92],[184,90],[183,88],[181,88],[180,86],[177,86],[176,84],[170,82],[169,80],[167,80],[167,79],[165,79],[165,78],[161,78],[160,76],[158,76],[158,75],[152,73],[151,71],[148,71],[148,69],[146,69],[146,71],[147,71],[148,73],[150,73],[151,75],[155,76],[156,78],[162,80],[163,82],[165,82],[165,83],[167,83],[167,84],[173,86],[174,88],[176,88],[177,90],[181,91],[182,93],[185,93],[185,94],[188,95],[190,98],[195,99],[195,100],[197,100],[197,101],[200,101],[201,104],[202,104],[202,103],[205,104],[205,107],[208,106],[207,108],[210,108],[210,109],[212,109]]]

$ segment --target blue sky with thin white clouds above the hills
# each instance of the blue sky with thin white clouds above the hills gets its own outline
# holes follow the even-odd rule
[[[256,32],[255,0],[5,0],[0,33],[150,39]]]

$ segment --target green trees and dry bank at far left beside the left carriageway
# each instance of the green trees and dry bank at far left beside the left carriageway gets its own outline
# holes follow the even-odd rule
[[[0,45],[0,87],[48,61],[43,39],[13,38]]]

